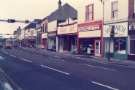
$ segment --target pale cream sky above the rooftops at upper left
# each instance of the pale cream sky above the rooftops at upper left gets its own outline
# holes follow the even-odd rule
[[[57,9],[58,0],[0,0],[0,19],[13,18],[17,20],[43,19]],[[72,6],[77,6],[78,0],[61,0]],[[77,7],[74,7],[77,8]],[[22,23],[0,22],[0,34],[12,34]]]

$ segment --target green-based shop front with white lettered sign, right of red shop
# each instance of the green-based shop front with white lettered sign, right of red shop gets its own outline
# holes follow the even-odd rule
[[[114,30],[114,37],[110,37],[111,30]],[[125,60],[128,53],[128,22],[106,24],[104,26],[104,56]]]

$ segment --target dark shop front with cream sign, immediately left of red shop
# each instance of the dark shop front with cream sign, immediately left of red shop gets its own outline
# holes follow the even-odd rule
[[[57,35],[59,52],[75,52],[77,50],[77,23],[59,26]]]

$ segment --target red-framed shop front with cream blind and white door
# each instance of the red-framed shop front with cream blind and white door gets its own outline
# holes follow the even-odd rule
[[[102,56],[102,21],[78,25],[78,53]]]

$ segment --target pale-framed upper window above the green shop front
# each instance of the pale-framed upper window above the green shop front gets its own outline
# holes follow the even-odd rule
[[[112,2],[112,11],[111,11],[112,18],[118,17],[118,1]]]

